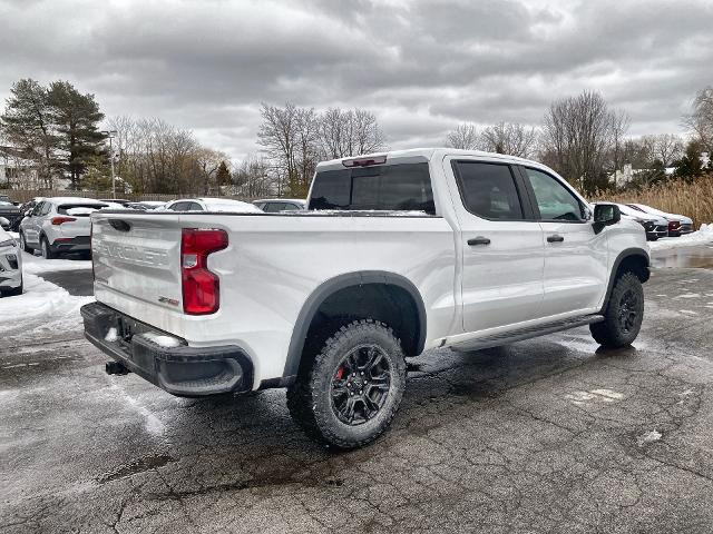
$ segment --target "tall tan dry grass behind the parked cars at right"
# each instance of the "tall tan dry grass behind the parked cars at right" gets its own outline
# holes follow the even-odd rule
[[[713,175],[693,184],[668,181],[641,191],[599,192],[589,200],[646,204],[670,214],[686,215],[697,229],[703,222],[713,222]]]

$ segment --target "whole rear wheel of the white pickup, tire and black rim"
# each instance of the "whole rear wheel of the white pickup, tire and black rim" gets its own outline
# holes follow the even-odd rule
[[[404,389],[399,339],[382,323],[355,320],[303,363],[287,389],[287,407],[307,436],[349,449],[367,445],[389,427]]]

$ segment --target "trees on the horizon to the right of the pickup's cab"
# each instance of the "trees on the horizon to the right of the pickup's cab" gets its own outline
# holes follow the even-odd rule
[[[713,88],[699,91],[691,113],[683,117],[692,134],[687,142],[672,134],[627,137],[629,121],[600,93],[584,91],[553,101],[539,127],[500,122],[479,131],[463,122],[448,132],[446,145],[538,159],[587,194],[647,187],[665,180],[672,167],[674,177],[686,180],[713,171],[713,164],[706,168],[701,159],[703,152],[713,155]],[[627,164],[636,174],[617,185],[612,177]]]

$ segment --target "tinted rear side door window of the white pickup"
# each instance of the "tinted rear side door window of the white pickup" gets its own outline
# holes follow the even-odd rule
[[[463,206],[490,220],[522,220],[522,204],[509,165],[456,161],[456,179]]]

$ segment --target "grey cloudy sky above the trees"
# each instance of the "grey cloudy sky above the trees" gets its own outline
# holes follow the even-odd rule
[[[595,89],[631,135],[680,132],[713,83],[713,0],[0,0],[0,98],[26,77],[236,159],[261,101],[369,108],[403,148]]]

